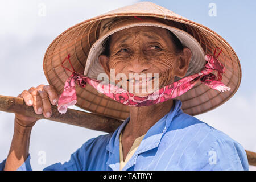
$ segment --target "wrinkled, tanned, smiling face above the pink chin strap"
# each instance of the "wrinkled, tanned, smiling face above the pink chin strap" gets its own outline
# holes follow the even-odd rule
[[[153,87],[154,73],[158,73],[160,89],[174,82],[175,76],[183,77],[191,59],[191,51],[188,48],[177,53],[166,29],[152,26],[131,27],[115,32],[110,39],[109,53],[109,57],[99,57],[102,67],[108,75],[110,69],[114,69],[115,75],[125,74],[128,89],[131,82],[139,84],[140,88],[144,82],[143,78],[129,80],[129,73],[144,73],[146,81],[152,80]],[[152,78],[148,77],[148,73],[152,73]],[[115,82],[117,84],[119,81]],[[148,93],[135,94],[143,96]]]

